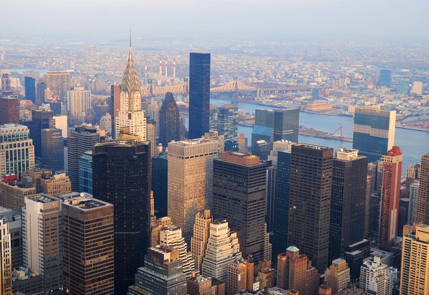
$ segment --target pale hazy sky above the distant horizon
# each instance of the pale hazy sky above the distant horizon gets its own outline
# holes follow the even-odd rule
[[[1,1],[0,36],[427,42],[428,0]]]

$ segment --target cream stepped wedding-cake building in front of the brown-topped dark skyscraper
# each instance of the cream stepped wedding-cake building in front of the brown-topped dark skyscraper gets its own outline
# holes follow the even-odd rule
[[[201,266],[202,274],[225,282],[228,277],[228,264],[240,257],[237,234],[230,231],[228,221],[218,219],[211,222],[206,256]]]

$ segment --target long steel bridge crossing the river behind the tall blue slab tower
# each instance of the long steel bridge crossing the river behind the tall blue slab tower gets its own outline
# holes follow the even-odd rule
[[[311,92],[312,87],[293,87],[293,88],[257,88],[249,86],[241,81],[238,81],[237,77],[234,77],[230,82],[221,86],[210,88],[210,93],[232,93],[238,94],[241,92],[255,92],[256,96],[262,95],[278,95],[286,93],[306,93]],[[146,84],[142,87],[142,97],[164,97],[167,92],[173,93],[173,95],[187,95],[189,92],[189,83],[183,82],[181,84],[173,86],[156,86],[152,83]]]

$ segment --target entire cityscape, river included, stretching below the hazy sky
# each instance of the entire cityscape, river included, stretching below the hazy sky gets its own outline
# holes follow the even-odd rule
[[[427,49],[144,41],[0,40],[0,294],[428,294]]]

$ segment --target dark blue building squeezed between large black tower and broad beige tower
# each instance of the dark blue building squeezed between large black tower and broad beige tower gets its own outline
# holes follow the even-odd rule
[[[167,199],[169,185],[168,153],[152,157],[151,189],[154,192],[155,215],[157,218],[167,216]]]

